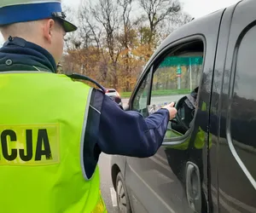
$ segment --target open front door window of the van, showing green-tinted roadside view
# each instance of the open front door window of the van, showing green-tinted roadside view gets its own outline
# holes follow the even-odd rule
[[[203,42],[195,41],[179,45],[158,56],[154,60],[152,69],[153,79],[151,72],[148,72],[133,98],[132,110],[141,112],[144,117],[147,117],[167,103],[178,101],[194,89],[198,89],[203,55]],[[190,114],[192,117],[192,112]],[[183,134],[173,130],[169,124],[166,139]]]

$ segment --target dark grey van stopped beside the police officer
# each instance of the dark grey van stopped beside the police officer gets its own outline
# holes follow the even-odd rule
[[[113,156],[120,212],[256,212],[256,1],[173,32],[152,55],[126,110],[176,101],[158,153]]]

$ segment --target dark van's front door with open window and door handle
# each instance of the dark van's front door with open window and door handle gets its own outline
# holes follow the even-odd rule
[[[151,158],[126,158],[125,182],[134,212],[207,212],[208,121],[212,70],[223,14],[218,11],[178,30],[148,62],[131,96],[130,109],[144,117],[198,90],[189,130],[169,124]],[[183,112],[179,114],[183,118]]]

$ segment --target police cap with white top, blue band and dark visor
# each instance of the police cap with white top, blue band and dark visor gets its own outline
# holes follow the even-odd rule
[[[0,26],[32,20],[59,20],[66,32],[77,26],[65,20],[61,0],[0,0]]]

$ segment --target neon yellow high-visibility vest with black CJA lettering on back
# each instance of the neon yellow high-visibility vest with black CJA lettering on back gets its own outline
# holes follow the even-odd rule
[[[83,164],[91,89],[50,72],[0,72],[0,213],[107,212]]]

